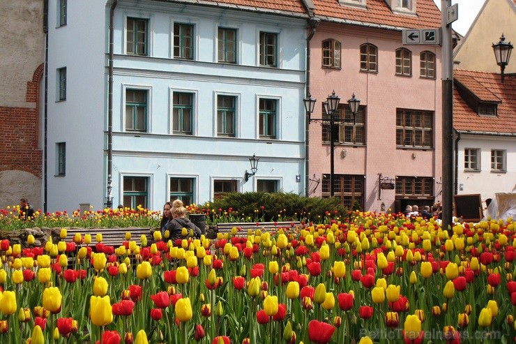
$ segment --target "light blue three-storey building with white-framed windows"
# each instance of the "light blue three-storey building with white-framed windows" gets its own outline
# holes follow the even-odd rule
[[[302,6],[49,5],[48,211],[304,193]]]

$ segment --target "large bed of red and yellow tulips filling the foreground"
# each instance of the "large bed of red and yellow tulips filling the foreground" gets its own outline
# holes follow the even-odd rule
[[[515,341],[511,219],[356,212],[146,246],[126,230],[119,247],[0,241],[0,343]]]

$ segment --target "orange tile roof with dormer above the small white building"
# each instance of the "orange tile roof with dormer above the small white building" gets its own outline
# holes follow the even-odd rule
[[[487,133],[516,133],[516,77],[507,76],[503,84],[497,73],[453,70],[454,78],[483,101],[497,104],[496,117],[480,117],[453,89],[453,128]]]

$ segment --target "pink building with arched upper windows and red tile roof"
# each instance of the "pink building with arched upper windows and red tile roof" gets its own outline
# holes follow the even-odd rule
[[[439,9],[432,0],[313,2],[314,15],[326,17],[309,43],[311,118],[328,119],[322,103],[332,91],[340,97],[335,196],[369,211],[432,206],[441,199],[441,47],[403,45],[402,29],[440,27]],[[330,137],[329,121],[310,123],[309,195],[331,194]]]

